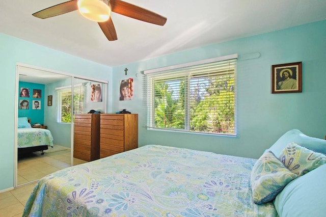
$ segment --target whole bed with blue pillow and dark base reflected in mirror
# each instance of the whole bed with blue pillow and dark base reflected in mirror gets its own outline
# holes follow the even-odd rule
[[[53,147],[53,137],[50,130],[32,128],[30,119],[26,117],[18,118],[17,147],[18,155],[41,151]]]

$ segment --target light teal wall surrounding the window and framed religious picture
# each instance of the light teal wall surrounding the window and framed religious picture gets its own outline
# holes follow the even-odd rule
[[[164,45],[162,45],[164,46]],[[250,53],[260,53],[247,59]],[[143,70],[238,53],[237,136],[161,132],[144,128]],[[245,60],[247,59],[247,60]],[[303,63],[303,92],[271,94],[271,65]],[[123,70],[128,68],[128,75]],[[139,145],[158,144],[258,158],[282,134],[300,129],[317,138],[326,134],[326,20],[286,30],[200,47],[114,68],[113,110],[139,114]],[[119,80],[134,78],[134,97],[119,101]]]

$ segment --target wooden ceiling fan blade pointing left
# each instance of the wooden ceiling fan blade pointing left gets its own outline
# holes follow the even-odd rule
[[[59,5],[55,5],[55,6],[43,9],[43,10],[36,12],[32,15],[35,17],[41,18],[41,19],[45,19],[45,18],[58,16],[58,15],[65,14],[65,13],[75,11],[75,10],[78,10],[77,0],[72,0],[69,2],[64,2]]]

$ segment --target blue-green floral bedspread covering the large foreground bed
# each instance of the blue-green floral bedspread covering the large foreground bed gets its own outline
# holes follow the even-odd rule
[[[255,161],[147,145],[47,175],[23,216],[277,216],[253,202]]]

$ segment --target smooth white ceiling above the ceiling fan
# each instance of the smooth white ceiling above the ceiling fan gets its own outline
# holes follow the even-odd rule
[[[168,18],[164,26],[112,13],[118,40],[78,11],[39,19],[67,0],[2,0],[0,32],[107,66],[326,19],[325,0],[125,0]]]

